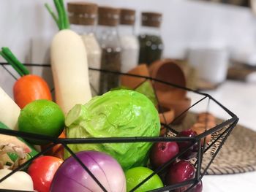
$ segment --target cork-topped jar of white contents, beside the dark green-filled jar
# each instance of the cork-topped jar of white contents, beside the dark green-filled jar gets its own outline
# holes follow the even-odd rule
[[[135,10],[120,9],[118,32],[121,42],[121,72],[128,72],[138,65],[139,42],[135,36]]]

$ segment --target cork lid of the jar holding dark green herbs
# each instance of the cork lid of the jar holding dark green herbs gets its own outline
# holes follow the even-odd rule
[[[162,22],[162,13],[159,12],[142,12],[141,25],[150,27],[160,27]]]

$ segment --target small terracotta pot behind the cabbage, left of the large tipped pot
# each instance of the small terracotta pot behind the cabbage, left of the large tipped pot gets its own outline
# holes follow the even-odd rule
[[[140,76],[150,77],[148,66],[146,64],[140,64],[136,66],[134,69],[127,72],[128,74],[137,74]],[[121,75],[121,85],[127,88],[137,88],[138,85],[145,82],[146,78],[143,77],[131,77],[128,75]]]

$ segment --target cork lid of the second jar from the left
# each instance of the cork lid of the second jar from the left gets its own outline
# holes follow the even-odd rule
[[[113,7],[99,7],[99,26],[117,26],[120,18],[120,9]]]

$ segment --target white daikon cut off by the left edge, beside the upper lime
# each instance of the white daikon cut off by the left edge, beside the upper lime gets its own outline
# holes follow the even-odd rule
[[[20,107],[0,87],[0,121],[9,128],[18,130]]]

